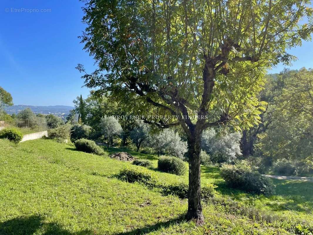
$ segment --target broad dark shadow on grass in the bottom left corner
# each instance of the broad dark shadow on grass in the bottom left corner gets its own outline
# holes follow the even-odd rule
[[[40,216],[16,217],[0,223],[1,235],[31,235],[37,230],[44,232],[44,235],[91,235],[88,230],[80,232],[69,232],[55,223],[45,223]]]

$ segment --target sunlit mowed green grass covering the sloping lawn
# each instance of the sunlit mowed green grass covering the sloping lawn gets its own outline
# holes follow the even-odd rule
[[[262,223],[203,205],[205,224],[186,222],[187,200],[162,196],[143,185],[110,176],[130,163],[76,151],[38,139],[12,145],[0,140],[0,234],[292,234],[284,223]],[[128,151],[138,158],[155,155]],[[132,166],[139,167],[139,166]],[[183,176],[154,173],[167,183]],[[202,167],[202,184],[218,185],[222,196],[278,214],[312,220],[312,183],[275,181],[277,195],[253,196],[230,190],[218,168]]]

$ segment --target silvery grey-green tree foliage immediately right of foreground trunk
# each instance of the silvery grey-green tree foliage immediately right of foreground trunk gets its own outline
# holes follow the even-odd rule
[[[202,134],[201,148],[210,154],[213,163],[233,162],[242,155],[240,139],[239,132],[216,133],[214,128],[210,128]]]

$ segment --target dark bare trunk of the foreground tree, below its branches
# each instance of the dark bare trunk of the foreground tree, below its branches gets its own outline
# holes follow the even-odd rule
[[[195,219],[203,223],[201,206],[201,181],[200,181],[200,144],[201,135],[192,134],[188,138],[189,153],[189,192],[187,220]]]

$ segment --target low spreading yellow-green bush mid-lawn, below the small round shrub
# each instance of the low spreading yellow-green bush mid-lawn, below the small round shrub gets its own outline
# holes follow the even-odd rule
[[[138,182],[151,187],[158,184],[157,176],[143,168],[125,167],[115,177],[129,183]]]

